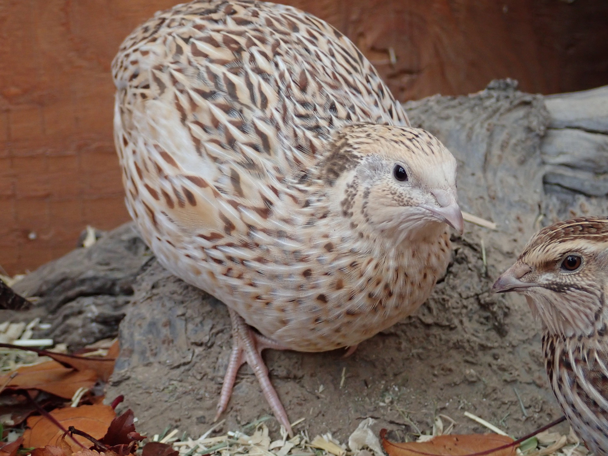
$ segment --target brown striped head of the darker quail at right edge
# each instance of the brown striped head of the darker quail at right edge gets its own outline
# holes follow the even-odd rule
[[[560,221],[537,232],[494,283],[525,295],[550,334],[590,336],[606,330],[608,218]]]

